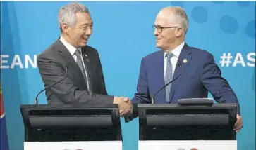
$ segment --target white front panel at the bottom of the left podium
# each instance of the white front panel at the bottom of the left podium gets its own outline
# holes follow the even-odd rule
[[[122,150],[121,141],[24,142],[24,150]]]

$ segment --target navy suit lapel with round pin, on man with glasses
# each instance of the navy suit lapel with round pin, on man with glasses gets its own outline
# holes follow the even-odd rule
[[[170,96],[169,96],[169,102],[170,103],[172,101],[173,95],[174,95],[175,90],[177,88],[178,81],[181,79],[181,76],[182,76],[183,72],[188,67],[188,64],[191,60],[190,53],[191,53],[190,48],[185,43],[185,45],[183,46],[183,48],[181,50],[181,54],[178,57],[178,61],[181,61],[181,68],[178,66],[178,62],[177,62],[176,69],[175,69],[174,74],[173,74],[173,79],[175,79],[175,81],[173,81],[173,83],[171,83],[171,90],[170,90]]]

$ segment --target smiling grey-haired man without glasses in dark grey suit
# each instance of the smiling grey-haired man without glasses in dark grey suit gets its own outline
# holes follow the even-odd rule
[[[71,3],[59,10],[61,37],[38,59],[38,67],[47,88],[66,75],[60,83],[46,90],[48,104],[118,104],[121,113],[130,111],[127,97],[109,96],[102,64],[95,48],[87,46],[92,34],[88,9]]]

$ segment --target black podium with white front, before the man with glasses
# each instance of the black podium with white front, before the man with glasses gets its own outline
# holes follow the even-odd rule
[[[138,150],[237,150],[236,104],[188,103],[138,104]]]

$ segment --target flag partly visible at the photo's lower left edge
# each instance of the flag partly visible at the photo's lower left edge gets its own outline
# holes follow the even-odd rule
[[[8,137],[7,137],[7,130],[6,130],[6,117],[4,113],[4,102],[2,96],[2,88],[0,84],[0,150],[8,150]]]

